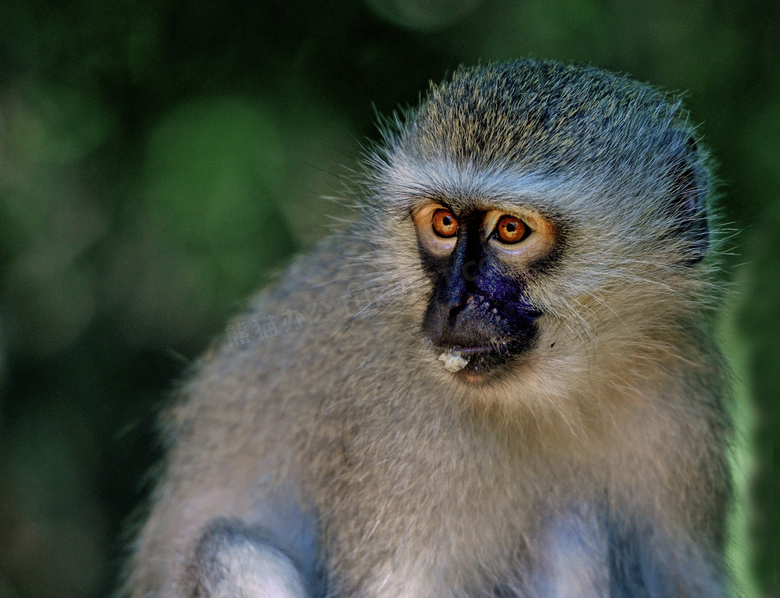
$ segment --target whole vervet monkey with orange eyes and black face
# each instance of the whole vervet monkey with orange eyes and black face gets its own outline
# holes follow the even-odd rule
[[[128,593],[725,596],[708,164],[595,68],[433,86],[181,389]]]

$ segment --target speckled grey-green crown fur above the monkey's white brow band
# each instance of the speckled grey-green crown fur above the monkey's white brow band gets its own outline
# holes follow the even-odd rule
[[[681,138],[664,138],[672,132]],[[458,69],[431,88],[399,145],[420,158],[555,174],[679,160],[679,143],[691,135],[679,99],[649,85],[592,67],[525,60]]]

